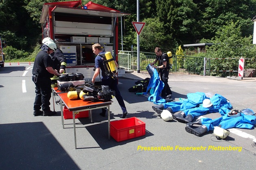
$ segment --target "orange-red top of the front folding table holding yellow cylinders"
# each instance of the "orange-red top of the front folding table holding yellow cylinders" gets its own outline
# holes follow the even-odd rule
[[[100,106],[108,106],[110,105],[113,101],[83,101],[81,99],[79,100],[70,100],[67,98],[67,92],[65,93],[57,93],[57,95],[61,98],[65,106],[69,111],[74,111],[74,110],[82,110],[82,109],[89,109],[89,108],[96,108]]]

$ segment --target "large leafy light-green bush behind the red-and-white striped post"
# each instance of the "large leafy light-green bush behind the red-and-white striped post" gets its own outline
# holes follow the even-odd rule
[[[237,70],[237,63],[241,57],[247,59],[247,67],[256,68],[255,45],[252,45],[252,36],[243,37],[241,26],[237,22],[227,22],[216,32],[213,38],[214,45],[206,48],[206,58],[225,58],[225,60],[210,60],[211,75],[230,76],[232,72],[219,72],[220,70]],[[234,73],[237,74],[237,73]]]

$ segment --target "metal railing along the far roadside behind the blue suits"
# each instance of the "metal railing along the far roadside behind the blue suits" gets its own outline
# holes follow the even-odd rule
[[[204,76],[216,74],[216,72],[222,72],[223,75],[228,76],[231,74],[236,74],[238,72],[239,58],[202,58],[183,55],[172,55],[172,58],[173,64],[170,72],[184,72],[200,74]],[[146,67],[148,66],[148,64],[154,62],[155,59],[155,53],[140,52],[140,70],[147,71]],[[225,62],[223,62],[223,60]],[[248,61],[252,59],[246,60]],[[137,70],[137,51],[118,51],[118,62],[119,67],[121,68],[125,68],[126,70]],[[225,65],[229,65],[221,66],[222,63],[224,63]],[[220,68],[226,68],[226,70],[219,70],[215,67],[212,68],[211,64],[214,64],[215,66],[219,65]]]

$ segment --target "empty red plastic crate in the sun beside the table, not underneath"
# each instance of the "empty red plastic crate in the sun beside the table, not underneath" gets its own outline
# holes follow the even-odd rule
[[[131,117],[127,119],[111,121],[110,122],[110,135],[117,141],[123,141],[131,138],[143,136],[146,133],[146,124]]]

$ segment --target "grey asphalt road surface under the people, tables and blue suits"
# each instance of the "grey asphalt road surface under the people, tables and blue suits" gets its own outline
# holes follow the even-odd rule
[[[75,149],[73,120],[65,119],[62,128],[59,105],[55,104],[57,115],[33,116],[32,68],[28,63],[0,68],[0,169],[255,169],[255,129],[232,128],[225,140],[217,140],[212,131],[201,137],[190,134],[184,123],[163,121],[147,96],[128,92],[135,81],[149,77],[135,72],[121,77],[118,86],[127,117],[145,122],[145,136],[108,140],[107,117],[101,117],[97,109],[93,123],[88,118],[76,119]],[[169,86],[175,101],[188,93],[210,92],[230,100],[233,108],[256,111],[255,78],[170,75]],[[122,112],[115,98],[110,109],[111,121],[120,120]]]

